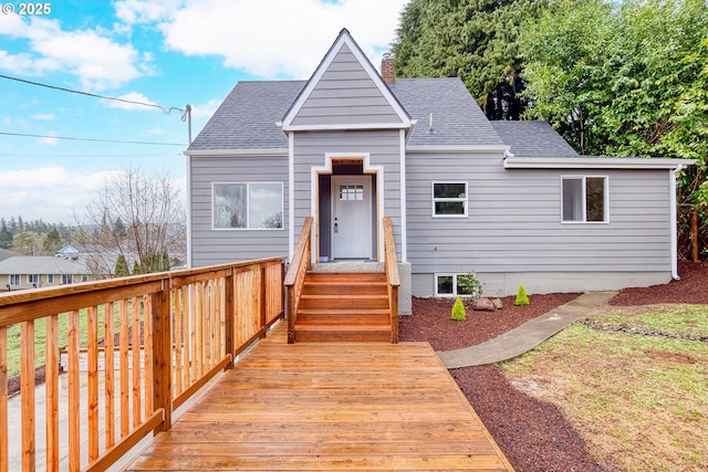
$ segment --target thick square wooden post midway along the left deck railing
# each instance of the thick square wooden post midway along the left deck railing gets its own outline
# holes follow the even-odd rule
[[[171,323],[169,302],[171,286],[154,293],[152,297],[153,306],[153,408],[155,411],[160,408],[165,411],[163,422],[155,429],[155,432],[166,431],[173,423],[173,395],[171,395]],[[150,412],[152,413],[152,412]]]

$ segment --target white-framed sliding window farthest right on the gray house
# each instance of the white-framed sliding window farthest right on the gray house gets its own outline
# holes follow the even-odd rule
[[[606,223],[608,196],[606,176],[561,176],[561,221]]]

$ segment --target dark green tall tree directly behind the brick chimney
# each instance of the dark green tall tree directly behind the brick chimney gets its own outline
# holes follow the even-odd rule
[[[393,44],[402,77],[460,77],[490,119],[519,119],[524,103],[520,27],[558,0],[412,0]]]

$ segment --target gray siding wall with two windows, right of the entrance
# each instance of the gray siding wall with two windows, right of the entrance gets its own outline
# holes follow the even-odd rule
[[[561,176],[608,178],[608,223],[561,222]],[[433,218],[431,182],[467,181],[468,217]],[[668,170],[504,169],[501,155],[408,154],[414,274],[670,273]],[[421,283],[421,282],[418,282]]]

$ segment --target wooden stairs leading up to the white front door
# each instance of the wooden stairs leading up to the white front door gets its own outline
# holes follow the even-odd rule
[[[309,271],[295,342],[391,342],[386,273]]]

